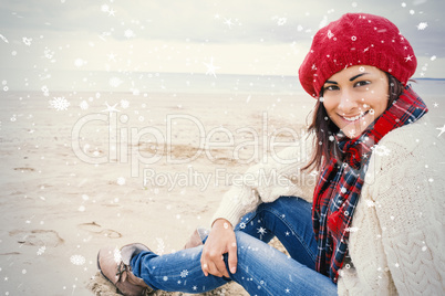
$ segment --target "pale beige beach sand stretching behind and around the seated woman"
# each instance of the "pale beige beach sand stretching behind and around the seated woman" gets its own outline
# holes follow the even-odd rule
[[[68,109],[50,108],[54,97]],[[2,295],[116,295],[97,274],[100,247],[180,250],[209,225],[230,178],[273,152],[270,142],[301,137],[314,104],[303,94],[104,92],[1,101]],[[439,108],[432,115],[441,127]],[[205,295],[247,293],[230,283]]]

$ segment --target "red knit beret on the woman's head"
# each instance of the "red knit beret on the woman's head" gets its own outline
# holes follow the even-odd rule
[[[410,42],[387,19],[346,13],[317,32],[299,70],[300,83],[318,97],[329,77],[353,65],[375,66],[406,85],[417,60]]]

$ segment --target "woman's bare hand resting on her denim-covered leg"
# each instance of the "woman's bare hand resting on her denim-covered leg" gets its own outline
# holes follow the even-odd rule
[[[229,277],[222,255],[229,254],[230,273],[237,272],[237,239],[232,225],[226,219],[218,219],[211,226],[210,234],[203,249],[200,266],[205,276]]]

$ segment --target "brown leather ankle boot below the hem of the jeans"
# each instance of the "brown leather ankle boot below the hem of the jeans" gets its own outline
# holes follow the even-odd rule
[[[149,249],[143,244],[128,244],[121,250],[116,247],[103,247],[97,254],[97,267],[102,275],[126,296],[138,296],[151,293],[153,289],[144,279],[132,273],[130,261],[133,256]]]

